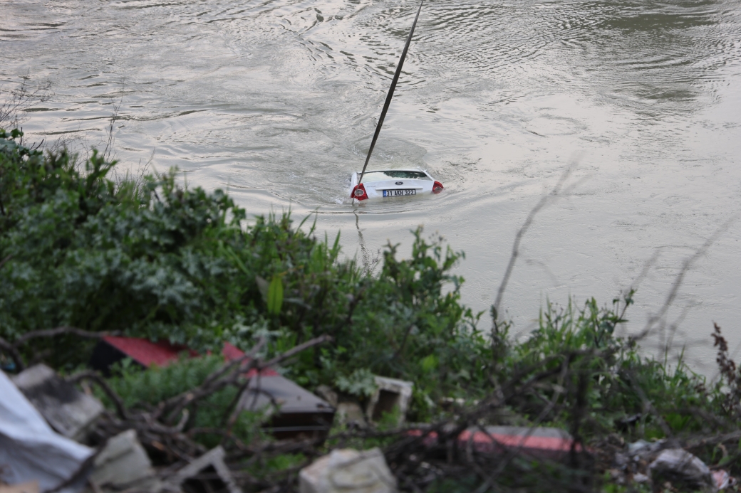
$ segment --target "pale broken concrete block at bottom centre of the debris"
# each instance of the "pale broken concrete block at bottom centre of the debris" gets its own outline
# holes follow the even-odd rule
[[[377,447],[335,449],[301,470],[299,493],[396,493],[396,478]]]

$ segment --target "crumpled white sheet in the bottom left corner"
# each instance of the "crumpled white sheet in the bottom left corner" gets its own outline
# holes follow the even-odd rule
[[[93,449],[62,437],[41,417],[15,384],[0,371],[0,474],[9,484],[38,480],[39,489],[58,488],[93,456]],[[82,477],[59,489],[76,493]]]

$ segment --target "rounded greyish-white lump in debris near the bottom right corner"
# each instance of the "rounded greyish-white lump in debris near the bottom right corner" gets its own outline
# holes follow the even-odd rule
[[[665,481],[686,489],[710,489],[716,484],[708,466],[698,457],[683,449],[666,449],[648,466],[654,484]]]

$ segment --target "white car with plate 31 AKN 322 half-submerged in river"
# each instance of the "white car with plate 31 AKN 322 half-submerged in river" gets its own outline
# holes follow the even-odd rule
[[[394,198],[442,192],[442,183],[421,170],[366,171],[358,184],[359,172],[350,178],[350,198],[364,201],[366,198]]]

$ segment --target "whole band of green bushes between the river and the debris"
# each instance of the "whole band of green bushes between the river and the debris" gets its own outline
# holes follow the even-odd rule
[[[463,254],[421,228],[410,258],[399,259],[389,244],[379,274],[370,275],[340,257],[339,236],[317,239],[306,220],[293,227],[283,214],[247,222],[225,192],[182,187],[174,171],[116,183],[108,178],[115,163],[96,152],[80,163],[66,152],[21,146],[20,136],[0,130],[0,337],[7,341],[76,326],[200,352],[222,341],[249,349],[265,338],[261,356],[269,357],[326,334],[331,343],[300,353],[282,371],[310,389],[325,383],[359,398],[372,392],[373,374],[413,380],[411,420],[439,416],[441,398],[470,403],[544,371],[554,372],[545,386],[511,400],[514,422],[568,428],[579,399],[587,403],[583,431],[595,435],[692,432],[708,426],[702,413],[728,415],[722,386],[706,389],[683,363],[670,368],[615,337],[632,293],[612,307],[594,299],[582,309],[549,303],[522,342],[495,316],[489,338],[477,328],[480,314],[460,301],[462,278],[451,274]],[[87,361],[91,346],[69,337],[22,349],[26,358],[52,350],[47,360],[69,369]],[[565,362],[574,371],[561,378]],[[633,415],[639,421],[621,428]]]

